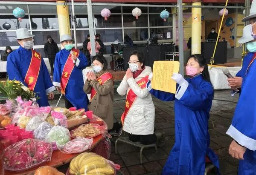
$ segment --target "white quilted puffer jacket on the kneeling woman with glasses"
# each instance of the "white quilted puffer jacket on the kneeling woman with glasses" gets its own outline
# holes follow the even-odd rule
[[[126,115],[123,126],[123,130],[130,134],[150,135],[154,133],[155,108],[151,94],[147,88],[141,89],[137,84],[137,81],[146,77],[151,72],[151,67],[145,66],[145,69],[137,78],[129,78],[126,81],[125,76],[117,88],[119,95],[127,94],[130,89],[137,95]]]

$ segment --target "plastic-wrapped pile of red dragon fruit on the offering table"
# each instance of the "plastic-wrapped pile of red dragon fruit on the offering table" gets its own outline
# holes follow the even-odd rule
[[[7,147],[3,153],[3,167],[10,171],[30,169],[51,161],[52,145],[46,141],[25,139]]]

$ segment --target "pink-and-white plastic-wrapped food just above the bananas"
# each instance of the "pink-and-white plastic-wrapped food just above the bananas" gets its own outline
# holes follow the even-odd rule
[[[78,137],[67,142],[61,151],[67,154],[79,153],[90,149],[92,145],[93,139]]]

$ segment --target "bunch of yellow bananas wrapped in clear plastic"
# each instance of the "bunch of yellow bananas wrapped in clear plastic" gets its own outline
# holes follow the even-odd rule
[[[70,162],[71,175],[114,175],[113,162],[92,153],[85,152],[78,155]]]

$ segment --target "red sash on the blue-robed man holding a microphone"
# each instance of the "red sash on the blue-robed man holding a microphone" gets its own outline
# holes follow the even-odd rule
[[[79,50],[78,49],[72,49],[73,51],[73,55],[75,55],[76,57],[78,57],[79,55]],[[63,71],[62,71],[62,75],[61,75],[61,92],[62,94],[65,94],[65,89],[67,87],[67,83],[68,80],[70,78],[71,72],[73,71],[75,64],[73,63],[73,60],[71,58],[71,53],[67,58],[67,61],[64,65]]]

